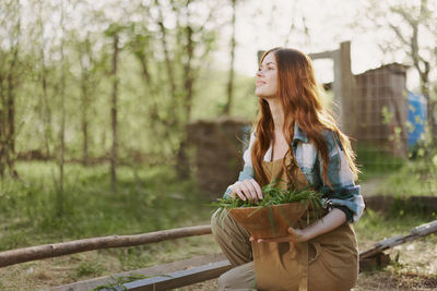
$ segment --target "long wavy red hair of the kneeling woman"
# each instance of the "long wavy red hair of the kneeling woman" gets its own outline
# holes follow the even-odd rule
[[[322,158],[322,177],[326,184],[331,186],[328,180],[328,145],[322,136],[322,132],[331,130],[338,135],[340,146],[342,147],[349,166],[357,179],[358,169],[355,165],[355,153],[352,149],[349,137],[343,134],[335,124],[335,120],[328,109],[323,108],[320,97],[324,94],[322,87],[317,84],[312,63],[305,53],[286,48],[271,49],[261,57],[260,63],[268,53],[274,53],[277,70],[277,98],[280,98],[283,112],[284,125],[283,133],[292,151],[292,141],[294,135],[294,124],[307,134],[308,140],[312,142]],[[263,98],[259,98],[259,111],[255,121],[255,131],[257,138],[252,146],[251,160],[256,178],[261,184],[268,182],[265,172],[262,169],[262,160],[273,140],[274,124],[269,108],[269,104]],[[335,141],[335,138],[334,138]],[[285,160],[285,159],[284,159]],[[293,168],[286,166],[286,173]]]

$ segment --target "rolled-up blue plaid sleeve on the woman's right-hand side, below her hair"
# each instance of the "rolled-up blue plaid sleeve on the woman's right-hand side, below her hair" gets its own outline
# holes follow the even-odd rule
[[[323,137],[328,144],[328,179],[332,189],[329,187],[323,179],[322,159],[319,155],[318,170],[322,181],[320,192],[327,198],[328,206],[344,211],[347,222],[356,222],[363,215],[365,207],[359,185],[355,185],[354,174],[336,135],[331,131],[327,131],[323,133]]]

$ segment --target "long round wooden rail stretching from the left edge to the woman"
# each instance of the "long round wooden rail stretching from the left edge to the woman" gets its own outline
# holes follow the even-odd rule
[[[63,243],[31,246],[31,247],[1,252],[0,267],[5,267],[14,264],[20,264],[42,258],[76,254],[93,250],[135,246],[135,245],[156,243],[167,240],[174,240],[193,235],[203,235],[210,233],[211,233],[211,226],[206,225],[198,227],[161,230],[161,231],[135,234],[135,235],[111,235],[104,238],[91,238],[91,239],[76,240]]]

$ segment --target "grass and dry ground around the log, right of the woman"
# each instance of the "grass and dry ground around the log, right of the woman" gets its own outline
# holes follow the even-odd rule
[[[436,214],[394,211],[378,214],[367,210],[355,226],[359,250],[368,250],[375,242],[435,220]],[[436,290],[437,235],[398,245],[386,251],[391,264],[383,269],[361,272],[355,290]]]

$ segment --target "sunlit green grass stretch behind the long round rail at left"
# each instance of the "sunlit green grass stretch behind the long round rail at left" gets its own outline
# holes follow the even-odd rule
[[[66,207],[58,217],[56,165],[16,166],[23,181],[0,180],[0,250],[190,226],[208,219],[211,211],[204,206],[208,197],[196,191],[192,181],[179,181],[168,167],[120,167],[118,191],[113,193],[107,166],[68,163]]]

